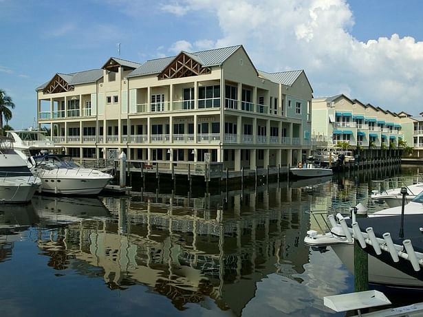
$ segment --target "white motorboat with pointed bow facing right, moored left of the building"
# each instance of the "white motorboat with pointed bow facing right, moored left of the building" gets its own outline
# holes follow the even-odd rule
[[[59,195],[97,195],[113,179],[93,168],[80,167],[70,155],[30,157],[32,171],[42,180],[41,191]]]

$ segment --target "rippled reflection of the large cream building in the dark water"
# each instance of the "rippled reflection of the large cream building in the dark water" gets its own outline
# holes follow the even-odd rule
[[[211,298],[237,316],[257,283],[279,274],[301,285],[310,206],[324,208],[334,183],[234,190],[200,197],[139,193],[130,198],[33,200],[36,239],[58,275],[102,277],[110,289],[147,285],[180,310]],[[336,186],[336,185],[335,185]],[[326,194],[325,194],[326,195]]]

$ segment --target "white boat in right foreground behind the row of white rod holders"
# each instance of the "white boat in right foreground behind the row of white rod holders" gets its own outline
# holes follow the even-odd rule
[[[360,205],[360,204],[359,204]],[[389,217],[393,215],[401,215],[402,206],[387,208],[369,214],[368,217]],[[423,192],[412,199],[409,204],[404,206],[405,215],[423,214]],[[339,259],[345,266],[354,273],[354,242],[349,242],[343,228],[336,221],[341,219],[342,216],[329,215],[329,222],[331,223],[328,232],[319,234],[315,230],[307,232],[304,238],[304,243],[314,248],[325,249],[331,247]],[[398,223],[398,228],[400,223]],[[384,285],[387,287],[400,287],[400,288],[423,288],[423,281],[418,280],[412,276],[404,274],[400,270],[387,265],[374,256],[369,255],[369,283]]]

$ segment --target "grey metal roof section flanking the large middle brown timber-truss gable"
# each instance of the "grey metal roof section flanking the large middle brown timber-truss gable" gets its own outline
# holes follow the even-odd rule
[[[217,48],[214,50],[207,50],[207,51],[200,51],[195,53],[188,53],[183,52],[190,58],[193,58],[195,61],[203,65],[204,67],[211,67],[221,65],[229,58],[236,50],[242,47],[242,45],[237,46],[230,46],[230,47],[222,47]],[[179,56],[179,54],[175,56],[169,56],[164,58],[153,59],[150,61],[145,62],[140,67],[135,69],[133,72],[128,74],[127,77],[135,77],[135,76],[144,76],[144,75],[151,75],[151,74],[159,74],[161,73],[172,61]]]

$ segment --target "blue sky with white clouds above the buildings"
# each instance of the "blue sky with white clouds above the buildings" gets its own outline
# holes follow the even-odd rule
[[[0,0],[0,89],[26,129],[56,73],[243,45],[261,71],[304,69],[315,98],[418,116],[422,16],[421,0]]]

